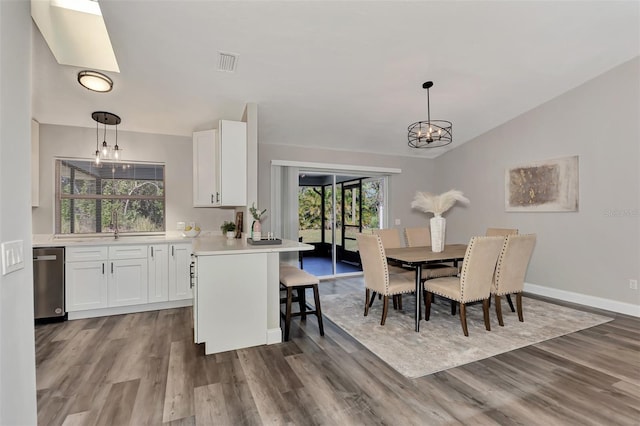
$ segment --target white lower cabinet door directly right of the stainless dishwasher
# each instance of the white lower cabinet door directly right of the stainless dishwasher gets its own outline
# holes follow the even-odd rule
[[[107,262],[67,262],[65,264],[65,304],[67,312],[107,307]]]

